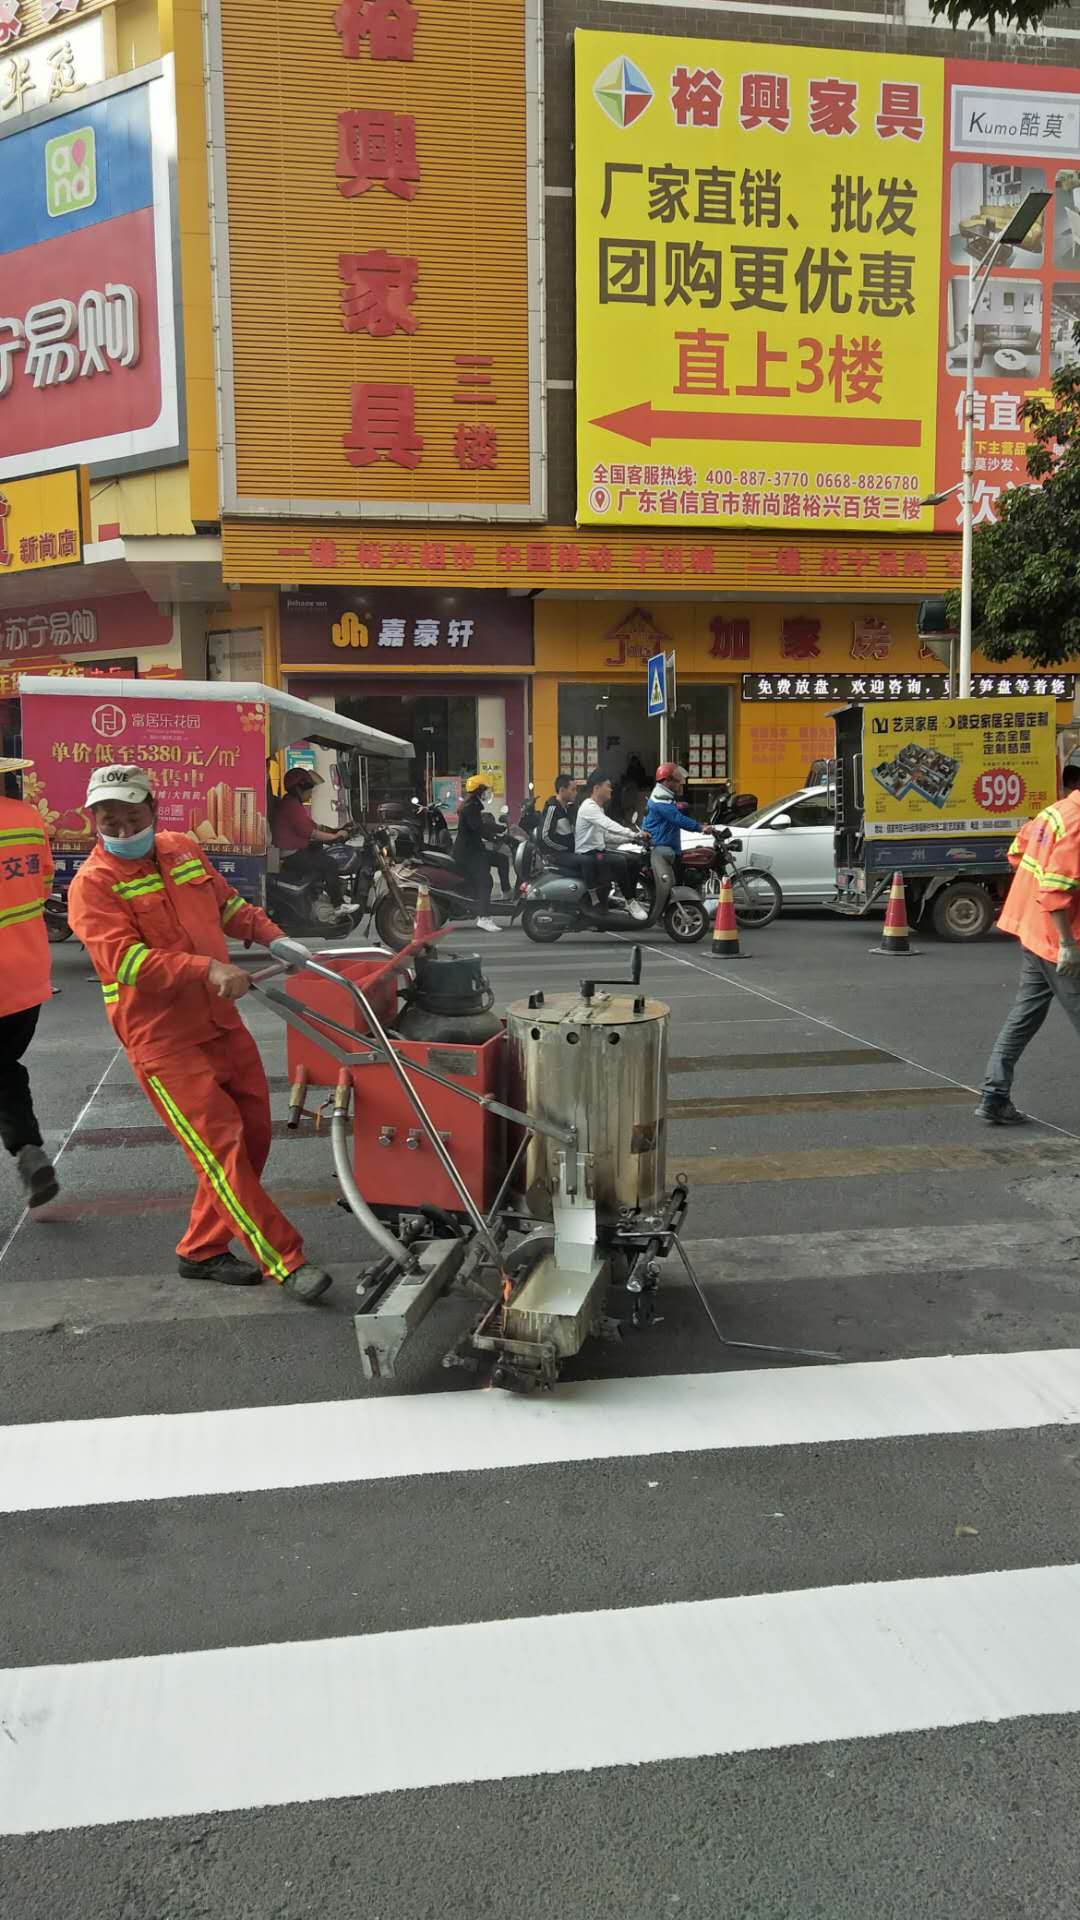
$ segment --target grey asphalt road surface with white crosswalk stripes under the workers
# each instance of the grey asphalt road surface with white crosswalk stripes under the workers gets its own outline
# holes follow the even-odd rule
[[[673,1271],[528,1402],[440,1365],[454,1298],[363,1382],[325,1137],[269,1185],[334,1292],[181,1283],[186,1164],[56,950],[61,1200],[0,1175],[4,1920],[1074,1920],[1080,1048],[1053,1012],[980,1129],[1017,948],[876,937],[646,954],[713,1315],[840,1361]],[[628,962],[454,945],[500,1002]]]

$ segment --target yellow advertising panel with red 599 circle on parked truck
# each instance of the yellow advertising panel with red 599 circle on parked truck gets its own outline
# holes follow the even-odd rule
[[[1057,793],[1053,701],[863,708],[867,837],[1017,833]]]

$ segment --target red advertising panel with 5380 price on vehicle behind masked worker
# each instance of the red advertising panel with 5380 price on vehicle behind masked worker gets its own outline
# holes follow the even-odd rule
[[[50,695],[23,689],[23,795],[48,828],[58,872],[69,876],[94,845],[86,783],[94,766],[142,766],[158,795],[158,824],[192,833],[240,893],[258,883],[267,849],[265,707],[252,701],[154,701]]]

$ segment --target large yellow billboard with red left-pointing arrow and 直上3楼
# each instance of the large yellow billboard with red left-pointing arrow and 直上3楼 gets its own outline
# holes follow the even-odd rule
[[[575,58],[578,518],[930,528],[944,63]]]

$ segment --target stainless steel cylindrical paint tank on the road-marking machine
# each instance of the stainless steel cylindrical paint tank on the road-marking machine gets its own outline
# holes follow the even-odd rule
[[[651,1212],[665,1192],[669,1008],[630,995],[538,998],[507,1008],[511,1104],[578,1129],[600,1219],[613,1221],[621,1208]],[[559,1142],[534,1135],[515,1188],[548,1219],[557,1185]]]

